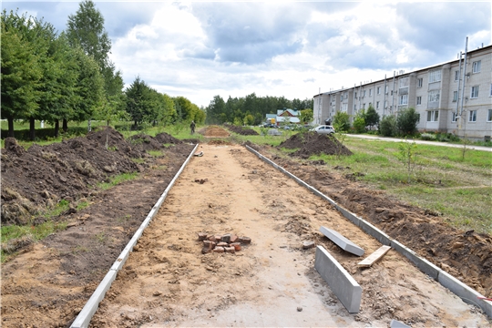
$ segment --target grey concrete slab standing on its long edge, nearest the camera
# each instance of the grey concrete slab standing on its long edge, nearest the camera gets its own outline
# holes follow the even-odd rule
[[[361,286],[322,246],[316,248],[314,268],[320,273],[323,280],[328,283],[347,311],[349,313],[359,313],[362,299]]]

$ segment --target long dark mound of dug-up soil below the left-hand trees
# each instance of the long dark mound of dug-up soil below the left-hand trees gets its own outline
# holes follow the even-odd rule
[[[93,196],[97,183],[144,169],[131,158],[148,157],[149,149],[164,149],[149,136],[134,136],[131,142],[113,128],[28,150],[15,138],[6,138],[1,163],[2,223],[27,224],[39,210],[59,200]]]

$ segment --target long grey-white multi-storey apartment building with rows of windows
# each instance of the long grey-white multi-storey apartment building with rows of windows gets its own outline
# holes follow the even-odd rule
[[[420,114],[420,131],[442,131],[475,139],[492,135],[492,46],[432,67],[314,96],[314,123],[323,124],[338,111],[351,118],[372,105],[379,116],[405,108]]]

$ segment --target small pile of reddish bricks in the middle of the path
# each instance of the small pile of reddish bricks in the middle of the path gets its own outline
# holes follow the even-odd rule
[[[251,243],[250,237],[238,237],[233,233],[227,233],[224,235],[210,235],[204,232],[199,232],[199,241],[203,241],[202,254],[209,252],[230,252],[235,253],[241,251],[241,245],[248,245]]]

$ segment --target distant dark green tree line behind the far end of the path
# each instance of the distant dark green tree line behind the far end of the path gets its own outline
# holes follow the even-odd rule
[[[208,124],[233,123],[236,125],[258,125],[265,120],[266,114],[276,114],[277,109],[311,109],[313,99],[289,100],[285,97],[256,97],[255,93],[246,97],[229,97],[227,101],[215,96],[206,108]]]

